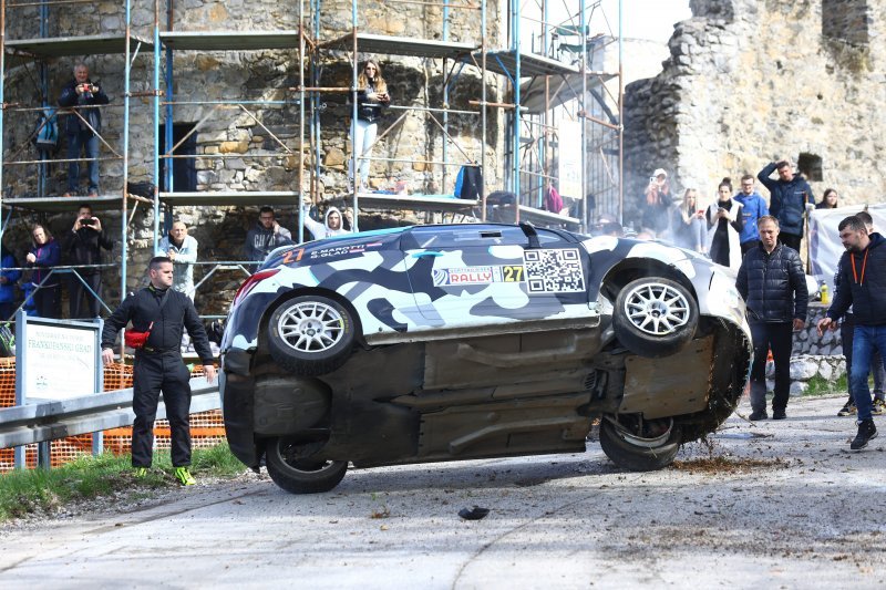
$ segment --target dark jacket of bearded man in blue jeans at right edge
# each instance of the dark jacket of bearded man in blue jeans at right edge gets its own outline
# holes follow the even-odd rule
[[[855,323],[886,324],[886,239],[870,234],[862,252],[844,252],[839,259],[839,282],[827,317],[838,320],[852,306]],[[855,269],[853,270],[853,261]]]

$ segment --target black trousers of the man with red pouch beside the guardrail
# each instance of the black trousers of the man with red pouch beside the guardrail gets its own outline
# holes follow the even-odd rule
[[[190,465],[190,373],[175,352],[135,353],[133,365],[132,465],[151,467],[154,456],[154,421],[159,392],[166,404],[166,420],[172,434],[174,467]]]

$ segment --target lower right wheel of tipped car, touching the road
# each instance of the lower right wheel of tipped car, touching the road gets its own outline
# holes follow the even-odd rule
[[[642,421],[639,416],[604,416],[600,446],[624,469],[651,472],[673,463],[682,435],[672,420]]]

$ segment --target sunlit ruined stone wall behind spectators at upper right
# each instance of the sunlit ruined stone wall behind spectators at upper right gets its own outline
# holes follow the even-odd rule
[[[886,1],[690,4],[663,71],[627,89],[628,215],[655,168],[671,172],[676,192],[694,187],[713,200],[722,177],[801,155],[821,158],[821,176],[807,174],[816,198],[833,186],[844,205],[879,201]]]

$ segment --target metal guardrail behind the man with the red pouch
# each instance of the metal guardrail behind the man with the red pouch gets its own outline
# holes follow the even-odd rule
[[[210,385],[206,377],[192,379],[190,392],[192,413],[222,407],[217,382]],[[157,420],[165,417],[166,405],[161,396]],[[0,410],[0,448],[130,426],[134,418],[132,387],[7,407]]]

